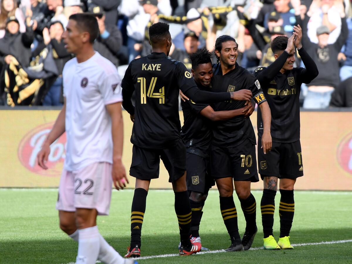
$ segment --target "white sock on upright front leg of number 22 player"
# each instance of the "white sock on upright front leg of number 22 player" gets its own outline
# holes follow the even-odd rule
[[[100,248],[98,226],[79,229],[78,233],[76,264],[95,264]]]

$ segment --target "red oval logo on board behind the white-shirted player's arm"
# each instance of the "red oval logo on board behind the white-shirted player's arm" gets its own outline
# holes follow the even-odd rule
[[[66,157],[66,133],[50,145],[50,154],[44,170],[38,165],[37,154],[51,131],[54,122],[38,126],[29,131],[20,141],[18,158],[29,171],[43,176],[59,177]]]

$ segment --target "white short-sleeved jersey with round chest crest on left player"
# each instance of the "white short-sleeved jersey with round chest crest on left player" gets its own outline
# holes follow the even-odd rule
[[[74,171],[95,162],[112,163],[111,118],[105,105],[122,101],[116,67],[98,52],[63,69],[67,137],[64,169]]]

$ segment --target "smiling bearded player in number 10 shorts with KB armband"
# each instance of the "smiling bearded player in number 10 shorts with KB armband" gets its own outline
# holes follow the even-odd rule
[[[264,154],[271,149],[270,108],[266,102],[259,81],[240,67],[236,60],[238,45],[234,38],[222,35],[216,39],[215,54],[220,64],[214,66],[214,74],[230,79],[228,86],[214,89],[214,92],[238,91],[249,89],[253,99],[262,110],[264,132],[260,149]],[[224,81],[223,81],[224,82]],[[224,90],[225,89],[225,90]],[[214,104],[215,111],[224,111],[242,107],[244,102],[227,101]],[[257,233],[256,200],[251,193],[251,182],[259,181],[256,162],[256,138],[249,117],[239,116],[228,121],[213,124],[211,151],[211,172],[220,193],[220,210],[231,245],[226,251],[250,249]],[[237,211],[233,201],[233,187],[241,203],[246,219],[246,230],[242,240],[238,232]]]

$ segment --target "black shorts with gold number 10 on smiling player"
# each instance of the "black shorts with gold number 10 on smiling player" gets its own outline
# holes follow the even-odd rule
[[[256,145],[249,139],[235,147],[212,145],[210,161],[215,179],[233,177],[234,181],[259,181]]]

